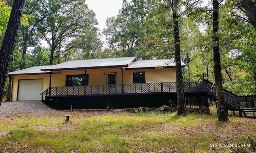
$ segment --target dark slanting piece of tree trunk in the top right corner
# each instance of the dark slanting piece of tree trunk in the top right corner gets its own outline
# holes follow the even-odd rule
[[[254,0],[253,2],[252,0],[241,0],[240,4],[248,15],[251,24],[256,29],[256,1]]]

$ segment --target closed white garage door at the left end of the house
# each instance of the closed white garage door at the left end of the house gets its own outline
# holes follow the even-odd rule
[[[18,100],[41,100],[43,79],[19,80]]]

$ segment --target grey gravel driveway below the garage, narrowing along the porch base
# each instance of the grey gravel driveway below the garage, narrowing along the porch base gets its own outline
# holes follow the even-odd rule
[[[69,112],[68,112],[69,111]],[[121,110],[120,110],[121,111]],[[86,110],[76,110],[77,115],[114,115],[120,113],[119,110],[114,111],[86,111]],[[0,106],[0,118],[9,115],[18,116],[44,116],[46,114],[60,113],[66,115],[71,113],[70,110],[56,110],[48,107],[41,101],[11,101],[2,102]]]

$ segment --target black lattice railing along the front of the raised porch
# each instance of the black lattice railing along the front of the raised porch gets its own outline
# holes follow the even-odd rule
[[[206,91],[204,82],[185,82],[185,92]],[[70,95],[114,95],[114,94],[136,94],[136,93],[175,93],[176,82],[165,83],[133,83],[112,85],[86,85],[49,87],[42,93],[42,100],[46,96],[70,96]]]

